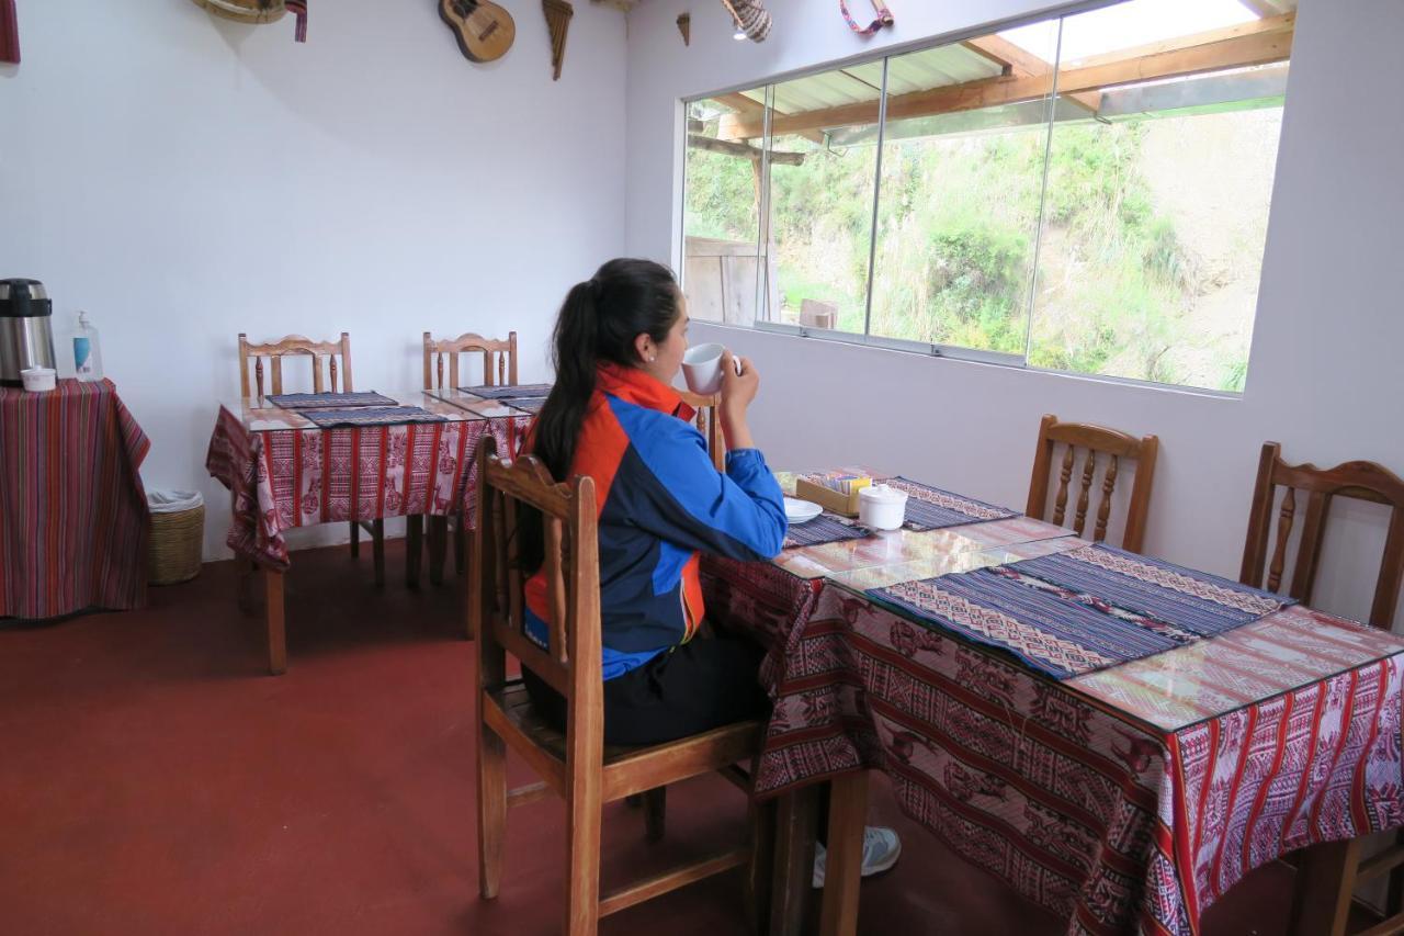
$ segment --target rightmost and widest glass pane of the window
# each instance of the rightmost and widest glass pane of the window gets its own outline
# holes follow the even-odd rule
[[[1053,128],[1029,364],[1243,389],[1286,87],[1278,21],[1207,0],[1064,21],[1060,90],[1095,77],[1098,119]],[[1247,35],[1206,45],[1226,27]],[[1193,74],[1177,73],[1185,46]]]

